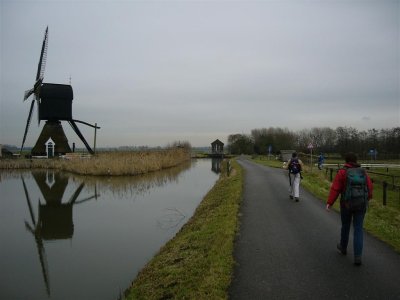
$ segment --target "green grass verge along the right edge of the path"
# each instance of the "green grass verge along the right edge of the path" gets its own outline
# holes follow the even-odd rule
[[[257,157],[255,162],[272,166],[282,167],[282,162],[267,160],[265,157]],[[301,185],[313,193],[321,201],[325,202],[328,198],[331,182],[326,176],[324,170],[313,168],[311,172],[309,167],[303,171],[303,180]],[[371,174],[378,181],[377,175]],[[391,245],[397,252],[400,252],[400,200],[399,192],[388,190],[387,205],[383,205],[382,184],[374,184],[373,199],[369,203],[369,208],[365,216],[364,228],[378,239]],[[339,210],[339,200],[334,205],[335,210]]]

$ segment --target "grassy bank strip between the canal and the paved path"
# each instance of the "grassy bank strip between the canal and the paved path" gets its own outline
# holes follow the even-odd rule
[[[223,164],[226,166],[226,164]],[[138,274],[124,299],[226,299],[242,197],[242,171],[232,162],[193,217]]]

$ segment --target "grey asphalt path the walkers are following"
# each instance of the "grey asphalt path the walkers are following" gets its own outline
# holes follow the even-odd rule
[[[230,299],[400,299],[400,255],[364,232],[363,264],[336,251],[340,215],[300,188],[289,199],[287,171],[239,159],[245,170]],[[352,232],[350,233],[352,240]]]

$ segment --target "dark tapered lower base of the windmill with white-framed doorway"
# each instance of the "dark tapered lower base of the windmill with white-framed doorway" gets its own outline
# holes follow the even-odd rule
[[[46,143],[50,139],[54,143],[54,149],[50,156],[65,155],[65,153],[72,152],[61,122],[46,121],[35,146],[32,148],[31,154],[33,156],[48,156]]]

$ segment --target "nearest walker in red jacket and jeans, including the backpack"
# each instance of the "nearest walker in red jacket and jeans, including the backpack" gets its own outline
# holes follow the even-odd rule
[[[345,161],[344,167],[337,172],[332,182],[326,209],[329,211],[338,196],[341,195],[342,228],[337,250],[343,255],[347,254],[350,227],[353,220],[354,264],[361,265],[364,216],[368,201],[372,198],[373,185],[366,171],[357,163],[357,156],[354,153],[346,154]]]

